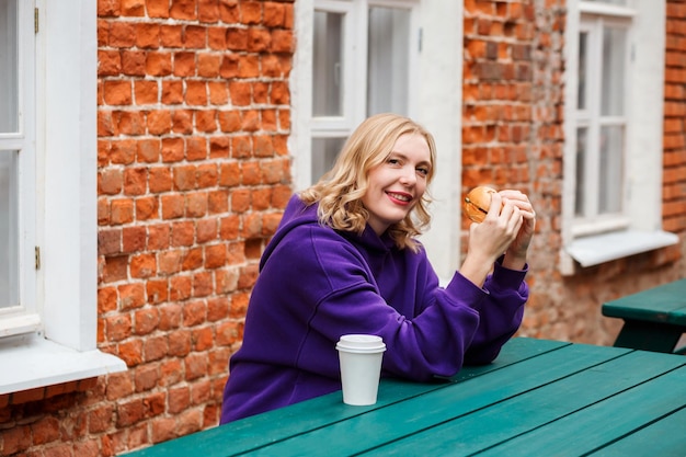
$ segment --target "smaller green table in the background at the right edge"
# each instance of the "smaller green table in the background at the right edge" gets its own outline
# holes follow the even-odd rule
[[[602,312],[625,321],[615,346],[674,352],[686,333],[686,279],[608,301]]]

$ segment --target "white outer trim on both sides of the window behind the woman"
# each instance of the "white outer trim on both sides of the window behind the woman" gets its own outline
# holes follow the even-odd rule
[[[374,3],[382,4],[381,1]],[[313,11],[313,0],[295,3],[298,48],[290,79],[293,130],[289,149],[294,155],[296,190],[310,185]],[[438,276],[449,279],[460,256],[462,24],[455,18],[462,16],[462,2],[421,0],[419,13],[422,50],[416,78],[420,91],[410,100],[409,106],[411,116],[434,135],[438,150],[437,173],[431,187],[434,196],[432,225],[421,239]],[[356,124],[362,122],[364,113],[362,116]]]

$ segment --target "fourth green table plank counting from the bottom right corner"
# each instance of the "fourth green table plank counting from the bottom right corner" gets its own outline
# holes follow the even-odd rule
[[[400,403],[369,411],[354,421],[342,421],[325,429],[294,436],[251,455],[277,455],[279,457],[354,455],[370,447],[412,436],[436,424],[516,397],[522,391],[536,389],[541,384],[563,379],[590,366],[606,363],[608,359],[621,358],[628,353],[631,351],[618,347],[563,346],[513,364],[507,369],[493,370],[471,381],[451,385]],[[364,437],[364,439],[355,437]],[[382,447],[379,454],[386,455],[387,450],[387,447]],[[402,447],[398,450],[401,455],[408,455],[407,449]],[[413,450],[421,455],[432,455],[431,450],[425,453],[426,449],[421,446],[413,447]],[[436,450],[434,455],[445,455],[445,448]]]

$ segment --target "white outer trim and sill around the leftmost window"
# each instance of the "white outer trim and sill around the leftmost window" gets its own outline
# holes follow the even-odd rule
[[[0,340],[0,365],[12,367],[0,370],[0,395],[126,369],[96,347],[96,2],[37,7],[37,48],[44,49],[37,99],[45,103],[37,129],[37,150],[45,156],[37,161],[44,192],[36,230],[43,332]]]

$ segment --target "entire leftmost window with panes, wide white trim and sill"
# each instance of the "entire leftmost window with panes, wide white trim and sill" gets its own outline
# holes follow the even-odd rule
[[[77,3],[0,2],[0,395],[126,368],[96,350],[98,15]]]

